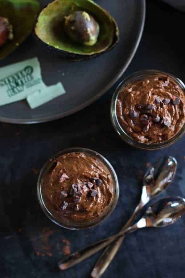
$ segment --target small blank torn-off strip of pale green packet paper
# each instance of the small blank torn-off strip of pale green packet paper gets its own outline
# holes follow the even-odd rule
[[[56,97],[65,94],[65,89],[61,82],[42,88],[27,96],[27,102],[32,109],[52,100]]]

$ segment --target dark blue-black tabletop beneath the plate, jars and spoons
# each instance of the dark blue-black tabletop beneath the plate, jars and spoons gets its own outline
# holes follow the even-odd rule
[[[185,81],[185,14],[158,1],[148,1],[146,24],[138,51],[126,70],[166,70]],[[121,81],[121,80],[120,80]],[[71,251],[116,233],[131,215],[141,193],[139,178],[146,163],[173,155],[178,170],[167,194],[185,196],[184,138],[163,151],[134,149],[114,132],[109,117],[113,92],[75,115],[36,125],[0,124],[0,277],[58,278],[89,276],[100,254],[59,272],[56,263],[66,243]],[[41,211],[37,172],[52,154],[80,146],[103,154],[120,182],[120,197],[112,215],[95,228],[69,231],[52,224]],[[164,194],[165,195],[165,194]],[[183,278],[185,272],[185,217],[164,229],[140,230],[125,239],[104,278]]]

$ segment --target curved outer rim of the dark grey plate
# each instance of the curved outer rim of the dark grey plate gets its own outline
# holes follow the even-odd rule
[[[77,106],[76,108],[72,108],[69,109],[66,112],[62,112],[53,116],[48,116],[48,117],[43,117],[43,118],[37,118],[35,120],[31,120],[31,119],[13,119],[13,118],[5,118],[0,116],[0,122],[4,122],[4,123],[10,123],[10,124],[37,124],[37,123],[45,123],[45,122],[50,122],[53,120],[57,120],[57,119],[61,119],[64,117],[67,117],[69,115],[72,115],[82,109],[84,109],[85,107],[89,106],[90,104],[94,103],[96,100],[98,100],[99,98],[101,98],[102,95],[104,95],[116,82],[117,80],[121,77],[121,75],[125,72],[125,70],[128,68],[128,66],[130,65],[130,62],[132,61],[139,43],[141,41],[141,37],[142,37],[142,33],[143,33],[143,29],[144,29],[144,24],[145,24],[145,18],[146,18],[146,0],[141,0],[141,7],[142,7],[142,20],[139,26],[139,32],[138,32],[138,36],[136,38],[136,42],[134,44],[134,47],[131,51],[130,56],[127,58],[126,63],[124,65],[124,67],[117,72],[117,74],[115,75],[115,77],[95,96],[93,96],[91,99],[88,99],[86,102],[80,104],[79,106]]]

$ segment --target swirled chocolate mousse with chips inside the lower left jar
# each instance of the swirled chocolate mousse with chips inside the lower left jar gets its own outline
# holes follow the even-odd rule
[[[113,196],[113,180],[103,162],[85,153],[68,153],[52,164],[42,180],[42,196],[53,216],[76,222],[100,217]]]

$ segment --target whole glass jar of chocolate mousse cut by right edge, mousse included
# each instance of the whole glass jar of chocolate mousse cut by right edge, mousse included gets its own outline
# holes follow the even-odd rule
[[[168,147],[185,132],[185,85],[163,71],[135,72],[117,87],[110,113],[113,127],[129,145]]]

